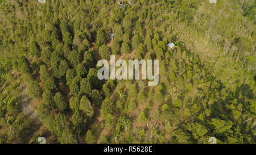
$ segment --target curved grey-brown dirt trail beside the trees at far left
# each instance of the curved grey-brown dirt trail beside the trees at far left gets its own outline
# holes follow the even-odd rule
[[[29,107],[27,104],[26,90],[27,90],[27,83],[24,83],[22,87],[22,97],[21,97],[22,111],[24,115],[27,116],[28,118],[32,120],[38,120],[38,114],[35,112],[34,109]]]

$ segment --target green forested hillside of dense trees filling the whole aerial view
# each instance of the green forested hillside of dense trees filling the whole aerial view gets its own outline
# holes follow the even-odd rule
[[[0,144],[255,143],[255,15],[255,0],[0,0]],[[98,79],[110,55],[159,60],[159,85]]]

